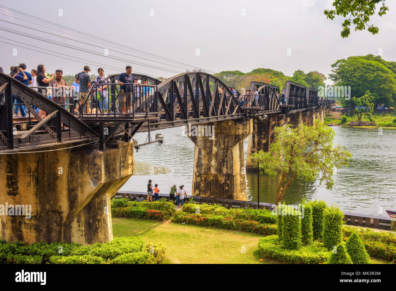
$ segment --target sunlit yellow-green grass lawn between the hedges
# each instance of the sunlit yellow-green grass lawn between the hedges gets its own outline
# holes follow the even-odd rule
[[[117,217],[112,219],[113,236],[141,236],[145,243],[164,242],[164,263],[259,264],[257,243],[263,236],[240,231],[181,225],[170,221],[150,221]],[[242,248],[245,247],[245,253]]]

